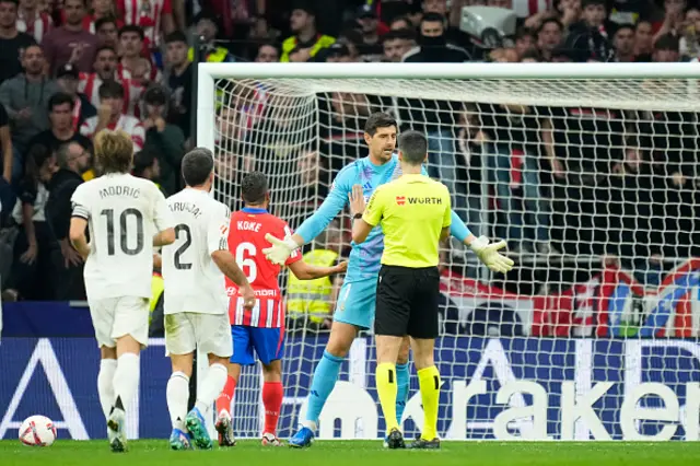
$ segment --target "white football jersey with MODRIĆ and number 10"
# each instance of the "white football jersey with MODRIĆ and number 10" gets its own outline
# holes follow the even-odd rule
[[[80,185],[71,200],[90,226],[88,298],[151,298],[153,236],[173,226],[163,193],[148,179],[107,174]]]

